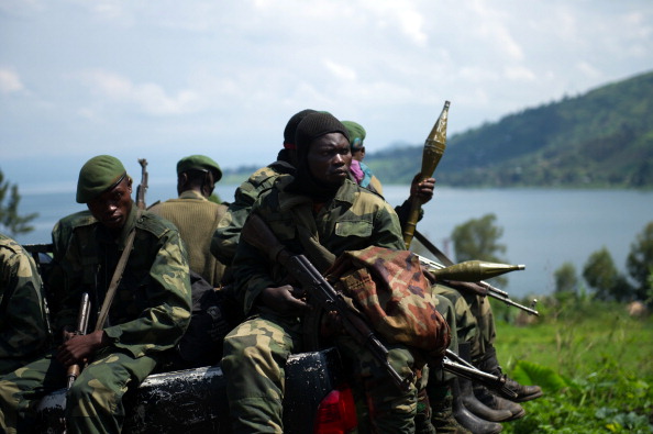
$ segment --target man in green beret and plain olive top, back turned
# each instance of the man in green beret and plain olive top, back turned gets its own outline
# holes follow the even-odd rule
[[[188,249],[190,269],[204,278],[213,288],[220,285],[224,265],[209,252],[211,237],[226,205],[208,200],[222,170],[204,155],[191,155],[177,163],[178,199],[155,203],[148,211],[173,222]]]

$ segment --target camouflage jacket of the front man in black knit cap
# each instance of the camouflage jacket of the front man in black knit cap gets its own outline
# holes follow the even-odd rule
[[[290,211],[291,203],[307,198],[284,191],[292,180],[281,176],[275,188],[263,194],[252,212],[258,213],[270,226],[277,238],[291,252],[303,253],[296,221]],[[376,193],[351,180],[345,180],[333,199],[323,204],[313,218],[320,244],[333,255],[345,251],[359,251],[370,245],[403,249],[401,230],[392,208]],[[255,305],[264,288],[284,283],[285,270],[272,264],[264,253],[246,242],[241,242],[234,257],[234,278],[244,312]]]

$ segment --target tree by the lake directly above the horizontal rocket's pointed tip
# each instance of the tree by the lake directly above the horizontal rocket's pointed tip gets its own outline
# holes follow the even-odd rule
[[[506,253],[506,245],[498,240],[503,235],[503,229],[495,224],[497,216],[492,213],[480,219],[472,219],[454,227],[451,238],[453,241],[456,260],[487,260],[490,263],[507,263],[498,254]],[[506,285],[508,279],[503,276],[494,278],[499,285]]]

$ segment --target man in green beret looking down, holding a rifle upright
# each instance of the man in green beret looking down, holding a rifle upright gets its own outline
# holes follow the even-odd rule
[[[37,400],[65,386],[65,367],[85,359],[88,366],[67,394],[67,432],[120,432],[123,394],[137,387],[184,334],[190,319],[185,247],[169,222],[136,210],[131,192],[132,179],[114,157],[93,157],[81,168],[77,202],[90,212],[66,218],[53,231],[55,267],[60,269],[54,276],[63,278],[53,282],[63,298],[54,325],[68,340],[0,381],[0,427],[8,433],[29,432]],[[133,251],[107,323],[73,335],[81,292],[90,293],[97,312],[131,231]]]

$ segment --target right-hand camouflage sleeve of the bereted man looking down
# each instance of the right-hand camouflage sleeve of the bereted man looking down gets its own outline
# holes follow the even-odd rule
[[[104,329],[115,347],[134,357],[174,347],[190,322],[188,259],[176,230],[167,230],[161,238],[150,277],[146,294],[151,307],[133,321]]]

